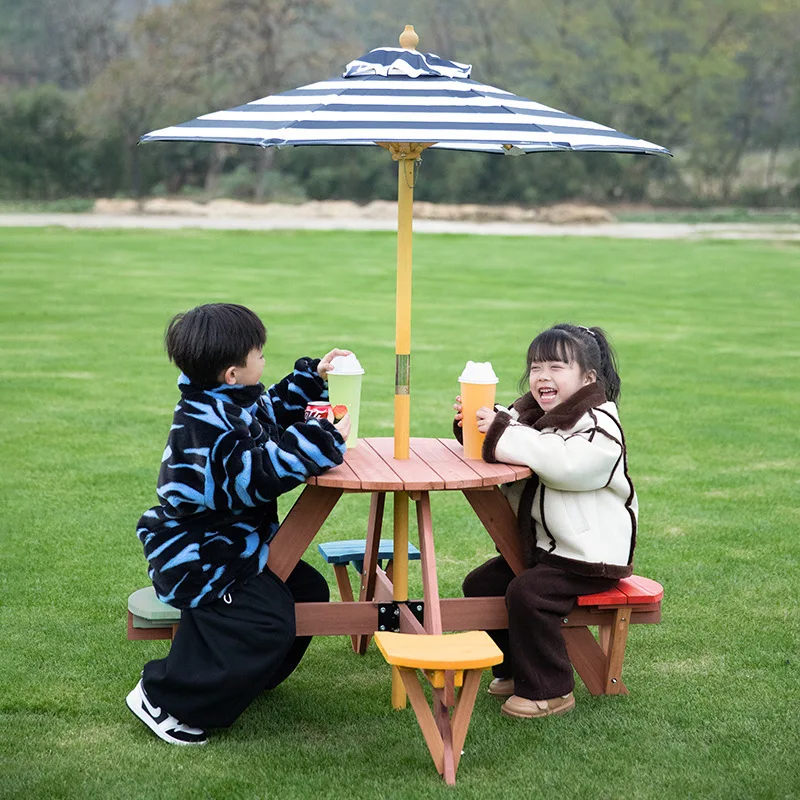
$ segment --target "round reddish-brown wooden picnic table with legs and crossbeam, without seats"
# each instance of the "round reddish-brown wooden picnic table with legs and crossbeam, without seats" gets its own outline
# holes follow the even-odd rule
[[[298,604],[298,635],[351,634],[364,637],[366,642],[366,637],[380,629],[378,608],[385,611],[388,604],[399,616],[402,632],[504,627],[502,598],[486,598],[485,603],[481,602],[483,598],[440,598],[430,493],[462,492],[498,551],[515,572],[520,572],[523,565],[516,518],[499,486],[529,477],[531,470],[465,458],[462,446],[454,439],[412,438],[410,457],[404,460],[395,459],[393,452],[391,438],[360,439],[358,447],[347,451],[343,464],[307,481],[272,541],[270,568],[286,578],[343,494],[371,495],[359,599]],[[378,566],[387,493],[406,493],[416,504],[423,584],[421,621],[415,616],[416,609],[409,608],[408,597],[402,596],[408,586],[408,559],[406,543],[397,541],[397,527],[392,576]],[[400,596],[398,586],[403,587]]]

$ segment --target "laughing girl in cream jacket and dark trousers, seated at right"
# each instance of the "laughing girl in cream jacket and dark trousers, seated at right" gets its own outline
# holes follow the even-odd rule
[[[477,417],[485,461],[534,471],[503,487],[527,569],[515,576],[502,556],[493,558],[467,575],[463,588],[467,597],[505,596],[508,630],[490,631],[505,660],[493,668],[489,693],[508,698],[506,716],[533,718],[575,706],[561,619],[578,595],[631,574],[638,506],[605,333],[567,324],[540,333],[528,348],[526,375],[529,392],[507,410],[481,408]]]

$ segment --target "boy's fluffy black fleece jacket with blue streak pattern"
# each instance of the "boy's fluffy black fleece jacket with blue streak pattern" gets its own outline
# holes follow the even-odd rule
[[[333,425],[303,420],[309,401],[327,399],[318,364],[299,359],[266,392],[260,383],[201,389],[181,375],[159,504],[136,530],[165,603],[195,608],[261,572],[278,496],[342,463],[345,443]]]

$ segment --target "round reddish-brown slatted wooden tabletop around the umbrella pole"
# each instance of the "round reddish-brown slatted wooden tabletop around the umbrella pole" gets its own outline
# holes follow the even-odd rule
[[[528,478],[528,467],[465,458],[455,439],[411,439],[408,459],[394,457],[394,439],[359,439],[344,463],[307,483],[351,492],[480,489]]]

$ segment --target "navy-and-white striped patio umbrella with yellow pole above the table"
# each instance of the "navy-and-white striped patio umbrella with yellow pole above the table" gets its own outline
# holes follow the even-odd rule
[[[660,145],[470,78],[468,64],[401,47],[372,50],[341,78],[152,131],[142,142],[229,142],[261,147],[377,145],[398,162],[395,458],[408,458],[411,230],[415,163],[427,148],[522,155],[563,150],[670,155]]]

